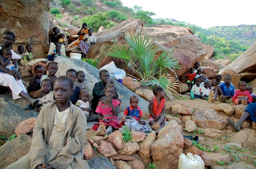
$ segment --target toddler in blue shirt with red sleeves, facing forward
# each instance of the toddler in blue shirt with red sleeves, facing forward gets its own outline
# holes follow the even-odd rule
[[[130,106],[126,107],[124,110],[124,115],[131,116],[139,122],[139,124],[145,125],[145,121],[140,121],[143,115],[142,110],[138,107],[139,98],[135,95],[130,97]]]

